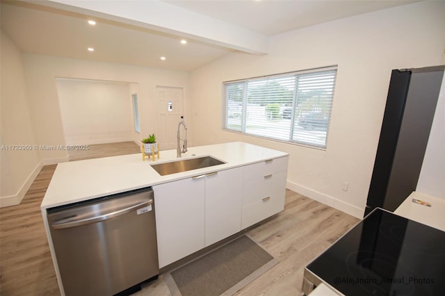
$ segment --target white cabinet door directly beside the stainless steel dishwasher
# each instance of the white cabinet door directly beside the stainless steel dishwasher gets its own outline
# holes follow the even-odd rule
[[[159,268],[204,247],[204,178],[153,187]]]

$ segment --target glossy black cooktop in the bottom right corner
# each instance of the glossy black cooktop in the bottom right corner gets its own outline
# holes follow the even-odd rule
[[[445,232],[375,208],[306,269],[344,295],[445,295]]]

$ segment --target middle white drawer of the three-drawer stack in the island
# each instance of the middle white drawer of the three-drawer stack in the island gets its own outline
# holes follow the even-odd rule
[[[243,206],[261,201],[266,197],[284,195],[287,171],[275,172],[243,184]]]

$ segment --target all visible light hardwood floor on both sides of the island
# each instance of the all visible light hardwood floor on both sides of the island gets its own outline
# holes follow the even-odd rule
[[[70,158],[139,152],[133,142],[120,145],[90,145],[89,153],[70,154]],[[40,212],[54,170],[56,165],[44,166],[21,204],[0,208],[0,295],[60,295]],[[248,231],[273,256],[280,258],[280,263],[236,295],[300,295],[305,265],[358,221],[286,190],[284,211]],[[170,295],[170,292],[161,274],[135,295]]]

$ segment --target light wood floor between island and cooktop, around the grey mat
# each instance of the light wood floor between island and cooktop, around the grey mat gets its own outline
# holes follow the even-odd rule
[[[287,189],[284,211],[247,231],[280,263],[235,295],[301,295],[305,266],[357,222],[355,217]],[[152,295],[170,296],[162,274],[133,296]]]

